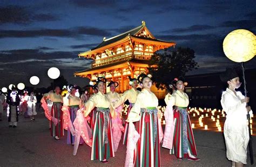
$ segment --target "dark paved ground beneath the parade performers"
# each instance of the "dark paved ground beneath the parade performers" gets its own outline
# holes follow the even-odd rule
[[[49,121],[39,113],[36,121],[20,117],[17,128],[9,128],[7,119],[0,122],[0,166],[124,166],[126,148],[119,144],[116,157],[108,164],[90,160],[90,147],[78,148],[77,156],[72,155],[73,146],[66,144],[66,136],[56,141],[50,136]],[[198,162],[178,160],[161,148],[161,166],[231,166],[226,159],[222,133],[194,130]],[[256,153],[256,137],[253,137]],[[256,154],[254,154],[256,161]],[[249,163],[250,159],[247,159]],[[256,166],[247,165],[247,166]]]

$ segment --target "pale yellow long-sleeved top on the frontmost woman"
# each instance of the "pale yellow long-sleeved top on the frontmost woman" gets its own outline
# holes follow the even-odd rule
[[[138,97],[137,100],[132,107],[130,114],[128,115],[127,122],[136,122],[140,120],[140,108],[147,108],[147,107],[157,107],[158,106],[158,99],[153,92],[149,92],[143,89]]]

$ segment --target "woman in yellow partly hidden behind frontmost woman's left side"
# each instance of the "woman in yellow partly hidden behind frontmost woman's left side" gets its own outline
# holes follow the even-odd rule
[[[123,105],[125,103],[126,100],[129,100],[129,108],[127,110],[127,116],[125,119],[127,119],[127,117],[129,116],[129,113],[131,111],[131,108],[134,106],[134,103],[137,99],[137,96],[139,95],[139,92],[136,88],[138,86],[138,82],[136,78],[131,78],[129,76],[129,84],[131,85],[131,89],[127,90],[123,93],[123,95],[118,98],[117,101],[115,101],[114,103],[114,108],[119,107],[120,105]],[[125,122],[125,129],[124,129],[124,139],[123,139],[123,144],[127,144],[127,135],[128,135],[128,129],[129,129],[129,122]]]

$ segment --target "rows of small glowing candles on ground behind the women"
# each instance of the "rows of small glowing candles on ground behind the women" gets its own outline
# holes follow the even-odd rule
[[[129,108],[129,105],[125,105],[123,108],[123,115],[127,115],[127,109]],[[164,120],[164,112],[166,110],[165,106],[158,106],[158,109],[160,111],[160,120],[161,124],[165,125]],[[223,130],[223,125],[225,121],[225,112],[224,110],[217,110],[217,109],[211,109],[211,108],[197,108],[197,107],[188,107],[187,108],[188,114],[190,114],[191,119],[191,127],[192,128],[203,128],[205,130],[208,130],[209,128],[211,130],[217,130],[221,132]],[[251,127],[251,134],[253,134],[253,118],[254,115],[250,115],[250,127]],[[197,119],[198,118],[198,119]],[[198,124],[197,123],[198,120]],[[220,121],[221,120],[221,121]],[[208,124],[208,125],[207,125]]]

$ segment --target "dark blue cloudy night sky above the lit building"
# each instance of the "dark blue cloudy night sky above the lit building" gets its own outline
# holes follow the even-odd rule
[[[233,66],[222,48],[225,36],[244,28],[256,34],[256,1],[0,1],[0,88],[19,82],[49,86],[47,70],[60,69],[69,84],[87,80],[73,72],[90,68],[78,53],[146,22],[161,40],[196,52],[203,74]],[[255,68],[255,57],[247,68]]]

